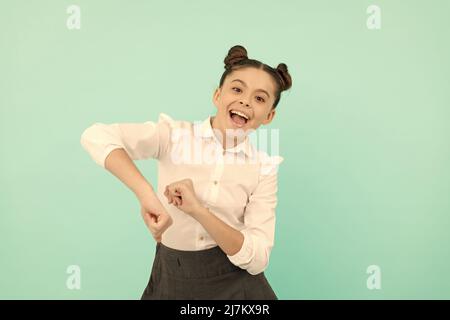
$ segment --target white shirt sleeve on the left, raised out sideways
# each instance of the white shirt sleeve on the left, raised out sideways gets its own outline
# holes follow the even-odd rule
[[[133,160],[160,159],[169,149],[173,120],[164,113],[157,123],[94,123],[81,135],[80,143],[91,158],[105,168],[114,149],[123,148]]]

